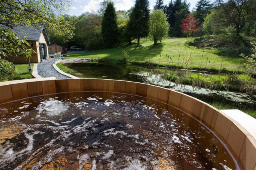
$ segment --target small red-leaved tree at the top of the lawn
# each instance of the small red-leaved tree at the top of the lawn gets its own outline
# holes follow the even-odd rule
[[[202,25],[193,16],[189,16],[189,14],[185,19],[181,20],[181,23],[181,32],[188,33],[188,36],[190,33],[202,28]]]

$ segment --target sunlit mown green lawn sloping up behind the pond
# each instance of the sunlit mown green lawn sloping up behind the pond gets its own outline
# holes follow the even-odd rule
[[[122,50],[127,50],[132,62],[150,62],[160,65],[172,64],[182,66],[184,59],[187,59],[192,52],[193,60],[188,63],[188,68],[206,68],[219,70],[222,60],[222,69],[245,71],[245,60],[239,56],[221,56],[204,49],[194,49],[186,45],[187,41],[193,38],[163,39],[161,44],[153,45],[153,41],[142,39],[141,46],[136,47],[135,43],[112,49],[95,50],[88,53],[68,54],[66,58],[80,57],[90,59],[102,59],[108,61],[121,61]],[[160,58],[161,55],[161,58]],[[168,57],[169,56],[169,59]],[[180,56],[180,57],[179,57]],[[203,56],[203,57],[202,57]],[[172,59],[172,60],[171,60]],[[184,65],[184,64],[183,64]]]

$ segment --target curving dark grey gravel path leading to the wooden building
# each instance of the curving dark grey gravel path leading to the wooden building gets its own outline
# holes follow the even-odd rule
[[[52,66],[52,64],[53,64],[53,60],[51,61],[46,60],[41,63],[38,63],[38,66],[37,66],[38,75],[41,77],[56,77],[57,79],[69,78],[57,72]]]

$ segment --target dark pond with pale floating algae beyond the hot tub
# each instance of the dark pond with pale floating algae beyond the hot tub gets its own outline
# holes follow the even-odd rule
[[[183,92],[204,102],[225,102],[236,109],[240,107],[256,109],[255,97],[240,92],[209,90],[190,85],[175,84],[163,78],[161,73],[165,71],[165,68],[111,63],[66,63],[63,65],[71,68],[74,71],[74,75],[79,78],[105,78],[144,82]]]

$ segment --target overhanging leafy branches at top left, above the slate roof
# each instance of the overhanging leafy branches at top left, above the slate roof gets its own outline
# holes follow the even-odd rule
[[[20,26],[38,27],[44,24],[49,28],[50,35],[72,37],[72,26],[64,21],[62,13],[66,12],[69,0],[2,0],[0,1],[0,23],[10,28]]]

